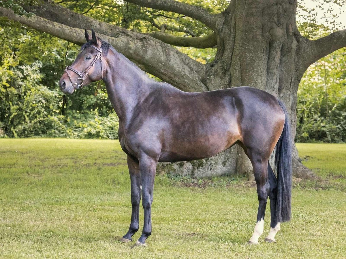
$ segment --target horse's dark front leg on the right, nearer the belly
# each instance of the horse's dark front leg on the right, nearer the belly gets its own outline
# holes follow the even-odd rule
[[[157,160],[147,155],[139,159],[140,174],[142,176],[142,205],[144,209],[144,225],[140,238],[135,246],[146,246],[145,240],[151,235],[151,206],[153,202],[154,179]]]

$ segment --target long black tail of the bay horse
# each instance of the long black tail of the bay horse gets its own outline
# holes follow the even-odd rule
[[[275,152],[275,171],[277,173],[275,214],[277,222],[285,222],[291,219],[292,139],[286,107],[280,100],[278,102],[285,113],[285,124]]]

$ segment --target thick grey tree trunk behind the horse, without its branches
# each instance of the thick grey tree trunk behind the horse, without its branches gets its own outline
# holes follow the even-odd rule
[[[202,80],[209,90],[253,86],[281,99],[290,115],[292,139],[297,123],[298,85],[304,73],[296,69],[300,63],[297,46],[301,39],[295,24],[296,8],[296,1],[231,2],[222,13],[222,24],[218,25],[215,61],[206,69]],[[315,178],[301,164],[295,147],[293,166],[295,176]],[[191,176],[246,174],[248,179],[253,179],[251,162],[240,147],[232,147],[209,159],[170,165],[166,171]]]

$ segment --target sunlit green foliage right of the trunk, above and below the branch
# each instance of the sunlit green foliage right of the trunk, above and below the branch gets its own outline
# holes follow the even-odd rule
[[[344,0],[302,1],[298,29],[304,37],[316,40],[340,29],[338,18],[343,17],[344,12]],[[345,64],[346,48],[343,48],[318,60],[302,77],[298,89],[296,141],[346,142]]]

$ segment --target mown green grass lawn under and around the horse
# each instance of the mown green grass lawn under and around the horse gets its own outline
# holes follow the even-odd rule
[[[269,201],[260,244],[245,244],[258,201],[243,179],[198,188],[157,175],[152,236],[131,249],[117,241],[131,213],[118,141],[0,139],[0,258],[345,258],[346,145],[297,146],[328,188],[295,184],[292,220],[275,244],[263,241]]]

